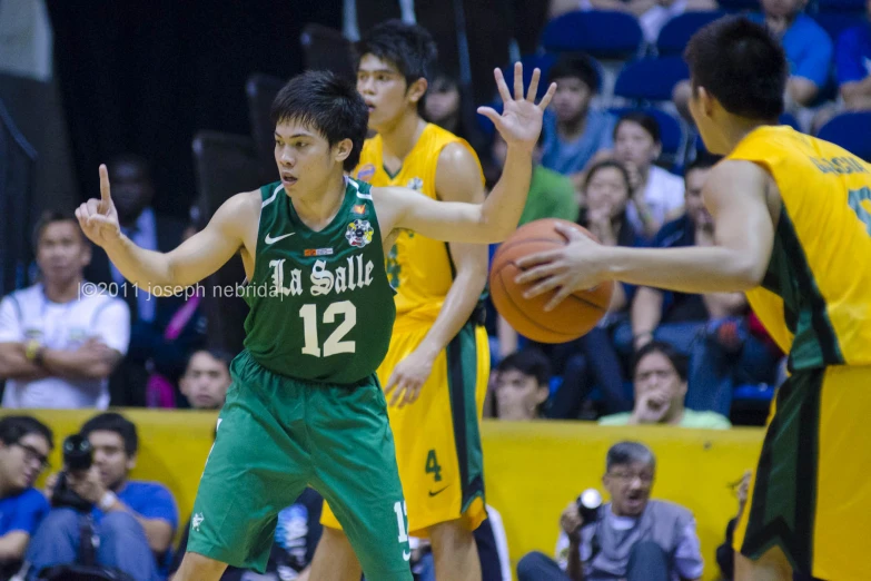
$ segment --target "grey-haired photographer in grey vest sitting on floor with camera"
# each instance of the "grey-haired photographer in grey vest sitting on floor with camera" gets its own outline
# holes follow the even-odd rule
[[[611,502],[585,491],[560,518],[558,563],[543,553],[517,564],[519,581],[687,581],[702,577],[695,520],[677,504],[650,500],[653,452],[637,442],[611,446],[605,463]]]

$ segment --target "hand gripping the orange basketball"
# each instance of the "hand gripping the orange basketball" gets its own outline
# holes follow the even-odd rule
[[[570,226],[557,224],[556,229],[568,239],[568,244],[516,262],[524,273],[515,278],[515,283],[534,284],[523,294],[525,298],[557,289],[545,305],[545,311],[553,311],[568,295],[593,288],[605,279],[601,256],[603,246]]]

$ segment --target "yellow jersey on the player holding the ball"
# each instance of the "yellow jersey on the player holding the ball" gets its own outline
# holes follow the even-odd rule
[[[791,371],[871,365],[871,165],[790,127],[760,127],[729,155],[765,168],[782,209],[748,302]]]

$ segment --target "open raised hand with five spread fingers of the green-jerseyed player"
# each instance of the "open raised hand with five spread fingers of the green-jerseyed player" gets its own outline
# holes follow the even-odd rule
[[[529,89],[523,95],[523,65],[514,63],[514,97],[508,91],[502,70],[495,69],[496,87],[502,96],[502,115],[491,107],[478,107],[478,112],[493,121],[496,130],[509,146],[521,146],[529,151],[535,147],[538,135],[542,132],[542,117],[547,105],[556,92],[556,83],[552,82],[547,92],[538,105],[535,105],[535,96],[538,93],[538,80],[542,76],[540,69],[533,71]]]

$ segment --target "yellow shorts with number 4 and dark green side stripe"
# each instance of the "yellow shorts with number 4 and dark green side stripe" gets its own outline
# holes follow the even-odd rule
[[[428,329],[394,333],[378,367],[382,385]],[[458,519],[475,530],[486,518],[479,427],[488,376],[487,332],[468,323],[436,357],[418,400],[388,407],[413,536],[426,539],[429,526]],[[320,522],[340,529],[326,502]]]

